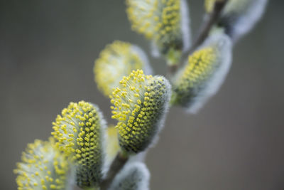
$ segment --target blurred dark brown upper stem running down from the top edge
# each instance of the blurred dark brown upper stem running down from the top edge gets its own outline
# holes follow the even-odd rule
[[[227,1],[228,0],[216,0],[215,1],[214,10],[209,15],[209,19],[207,19],[207,21],[205,21],[202,24],[202,27],[200,29],[200,34],[196,38],[195,42],[192,44],[191,48],[188,51],[186,51],[185,53],[182,53],[182,57],[180,58],[182,62],[187,58],[188,55],[190,55],[190,53],[195,51],[195,49],[198,46],[200,46],[200,44],[202,44],[203,41],[207,38],[209,32],[211,31],[212,26],[214,26],[214,23],[218,21],[219,16],[222,12],[222,9],[226,5]],[[176,70],[178,70],[178,65],[182,65],[182,64],[175,64],[173,66],[169,66],[168,68],[169,75],[173,75],[176,72]]]

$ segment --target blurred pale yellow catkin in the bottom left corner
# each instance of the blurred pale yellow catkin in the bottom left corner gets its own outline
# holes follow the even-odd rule
[[[66,189],[68,170],[67,157],[50,138],[28,144],[14,173],[18,175],[18,189]]]

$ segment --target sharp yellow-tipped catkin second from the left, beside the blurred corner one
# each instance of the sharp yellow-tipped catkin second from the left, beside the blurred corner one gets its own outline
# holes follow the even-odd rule
[[[80,187],[96,186],[102,179],[104,123],[99,108],[84,101],[70,102],[53,122],[51,134],[75,164]]]

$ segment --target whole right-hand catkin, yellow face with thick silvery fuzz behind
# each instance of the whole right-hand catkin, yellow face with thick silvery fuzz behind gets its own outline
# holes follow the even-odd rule
[[[172,103],[195,113],[217,93],[231,65],[231,40],[214,33],[191,56],[173,81]]]

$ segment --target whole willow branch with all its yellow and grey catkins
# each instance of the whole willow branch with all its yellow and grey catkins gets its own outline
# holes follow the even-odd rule
[[[232,41],[253,27],[267,0],[228,0],[219,18],[214,18],[218,12],[212,14],[215,2],[205,0],[212,17],[193,53],[185,55],[190,46],[186,0],[126,0],[131,27],[151,40],[153,54],[163,54],[173,89],[163,76],[151,75],[141,48],[123,41],[109,44],[93,71],[97,87],[111,99],[116,126],[105,128],[96,105],[70,102],[53,122],[53,137],[35,140],[23,152],[15,169],[18,189],[67,189],[76,181],[82,189],[147,190],[149,171],[137,162],[158,138],[169,101],[197,112],[217,93],[231,64]],[[185,64],[175,69],[183,56],[188,56]]]

